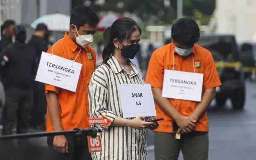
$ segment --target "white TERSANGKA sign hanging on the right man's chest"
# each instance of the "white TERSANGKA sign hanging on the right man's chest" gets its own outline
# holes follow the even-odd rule
[[[204,74],[165,70],[162,97],[201,102]]]

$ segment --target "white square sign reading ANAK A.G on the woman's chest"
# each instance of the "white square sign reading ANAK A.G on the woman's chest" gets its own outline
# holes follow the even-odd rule
[[[124,118],[156,116],[150,84],[119,85],[119,93]]]

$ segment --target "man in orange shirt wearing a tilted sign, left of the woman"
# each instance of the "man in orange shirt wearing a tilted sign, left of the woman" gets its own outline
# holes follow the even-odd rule
[[[47,97],[47,131],[88,128],[89,105],[87,88],[96,67],[96,54],[89,44],[99,23],[97,14],[85,6],[77,6],[70,17],[70,31],[48,49],[48,53],[82,64],[76,92],[45,85]],[[87,138],[76,135],[47,137],[52,156],[61,160],[90,160]],[[54,150],[53,150],[54,149]]]

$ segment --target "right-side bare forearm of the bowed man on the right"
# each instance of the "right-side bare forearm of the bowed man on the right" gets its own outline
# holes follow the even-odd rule
[[[201,117],[201,115],[205,113],[205,111],[207,110],[208,106],[210,105],[214,97],[215,97],[215,88],[206,89],[203,94],[201,102],[195,108],[191,117],[194,120],[198,120]]]

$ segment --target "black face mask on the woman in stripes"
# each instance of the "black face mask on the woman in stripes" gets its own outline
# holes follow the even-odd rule
[[[122,56],[129,59],[134,59],[138,51],[139,51],[139,44],[123,46],[121,49]]]

